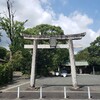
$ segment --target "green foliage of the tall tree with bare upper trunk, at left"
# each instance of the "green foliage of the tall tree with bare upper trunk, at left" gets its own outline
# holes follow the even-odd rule
[[[24,40],[20,33],[24,31],[24,24],[25,22],[18,22],[13,21],[12,27],[10,26],[10,19],[1,17],[0,18],[0,27],[2,30],[4,30],[9,39],[11,40],[10,50],[12,51],[12,54],[14,54],[17,50],[21,50],[24,45]],[[12,33],[11,33],[12,29]]]

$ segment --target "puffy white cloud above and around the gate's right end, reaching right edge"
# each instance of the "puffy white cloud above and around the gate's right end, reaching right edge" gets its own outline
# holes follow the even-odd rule
[[[89,25],[93,24],[93,19],[78,12],[71,14],[71,16],[60,14],[59,19],[56,21],[54,20],[53,24],[61,26],[65,34],[86,32],[86,36],[82,40],[74,42],[82,45],[83,48],[89,46],[89,44],[100,35],[99,31],[95,32],[89,28]]]

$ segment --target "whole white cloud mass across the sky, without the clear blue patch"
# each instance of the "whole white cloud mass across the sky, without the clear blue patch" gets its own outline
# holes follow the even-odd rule
[[[6,5],[4,5],[3,1],[4,0],[0,0],[0,4],[1,2],[3,3],[0,9],[4,8]],[[63,2],[64,1],[65,0],[63,0]],[[82,43],[84,47],[89,46],[89,43],[100,35],[100,30],[95,32],[93,29],[89,28],[89,25],[93,24],[93,19],[88,17],[88,15],[78,11],[72,12],[69,16],[56,14],[49,0],[15,0],[14,10],[16,10],[16,20],[25,21],[28,19],[26,27],[47,23],[61,26],[64,30],[64,34],[86,32],[86,36],[81,41],[77,41],[77,44]]]

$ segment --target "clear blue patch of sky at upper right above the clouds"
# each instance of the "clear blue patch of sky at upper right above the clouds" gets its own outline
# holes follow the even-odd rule
[[[52,9],[59,15],[64,13],[69,16],[71,13],[78,11],[88,15],[94,20],[90,25],[95,31],[100,28],[100,0],[49,0]]]

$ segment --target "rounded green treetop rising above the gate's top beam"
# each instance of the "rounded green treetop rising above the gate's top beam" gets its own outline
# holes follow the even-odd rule
[[[41,24],[33,28],[28,28],[25,33],[32,35],[63,35],[63,30],[59,26]]]

